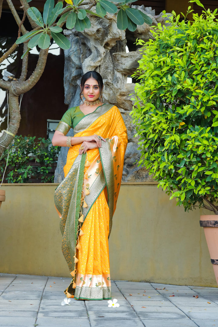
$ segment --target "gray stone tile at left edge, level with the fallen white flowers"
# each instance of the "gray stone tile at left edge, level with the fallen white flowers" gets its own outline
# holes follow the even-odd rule
[[[38,311],[40,300],[6,300],[0,298],[1,311]]]

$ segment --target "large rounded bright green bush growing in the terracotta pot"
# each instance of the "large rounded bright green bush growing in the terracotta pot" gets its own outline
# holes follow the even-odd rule
[[[193,14],[192,22],[180,22],[173,12],[169,26],[159,24],[152,32],[154,40],[137,40],[142,59],[131,114],[139,164],[185,211],[202,206],[218,214],[216,11]]]

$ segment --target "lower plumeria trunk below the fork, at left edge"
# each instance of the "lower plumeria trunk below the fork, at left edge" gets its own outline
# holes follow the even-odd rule
[[[20,125],[21,115],[19,110],[18,96],[14,95],[11,90],[9,90],[8,105],[10,113],[10,123],[8,126],[8,131],[16,135]],[[0,137],[0,155],[3,153],[5,148],[11,143],[13,138],[14,137],[12,135],[3,132],[2,136]]]

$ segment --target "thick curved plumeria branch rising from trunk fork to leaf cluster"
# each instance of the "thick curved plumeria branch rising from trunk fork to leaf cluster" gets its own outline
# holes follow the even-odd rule
[[[26,81],[23,81],[23,82],[14,81],[13,82],[13,85],[15,87],[17,95],[20,95],[22,93],[29,91],[38,82],[38,80],[42,76],[42,73],[45,68],[45,64],[46,64],[46,60],[47,60],[47,56],[48,56],[48,50],[49,50],[49,48],[40,50],[37,66],[36,66],[34,72],[32,73],[32,75]]]

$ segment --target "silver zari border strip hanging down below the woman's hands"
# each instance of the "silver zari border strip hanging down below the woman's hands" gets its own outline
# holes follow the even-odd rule
[[[108,207],[109,207],[109,235],[112,227],[112,217],[114,209],[114,171],[113,171],[113,158],[110,150],[109,139],[106,142],[101,143],[102,147],[99,147],[99,153],[101,157],[102,168],[105,176],[107,191],[108,191]]]

